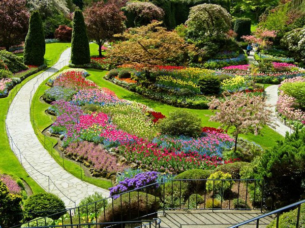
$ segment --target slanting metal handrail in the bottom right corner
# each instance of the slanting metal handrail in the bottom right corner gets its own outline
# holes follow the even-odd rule
[[[243,222],[240,222],[236,225],[232,225],[230,226],[229,228],[238,228],[240,226],[243,226],[243,225],[247,225],[249,223],[253,223],[255,222],[256,224],[256,227],[259,227],[259,222],[262,218],[265,218],[267,216],[271,216],[271,215],[276,215],[277,216],[277,220],[276,220],[276,227],[278,228],[279,227],[279,222],[280,222],[280,215],[283,213],[283,212],[286,212],[287,210],[291,210],[291,209],[295,209],[297,208],[297,214],[296,214],[296,218],[295,218],[295,227],[298,228],[300,227],[299,226],[299,220],[300,220],[300,210],[301,210],[301,205],[305,203],[305,200],[302,200],[302,201],[299,201],[299,202],[296,202],[296,203],[293,203],[293,204],[290,204],[286,207],[282,207],[282,208],[279,208],[277,210],[274,210],[274,211],[270,211],[268,213],[265,213],[263,215],[260,215],[258,217],[255,217],[255,218],[251,218],[247,221],[243,221]],[[292,227],[292,226],[291,226]]]

